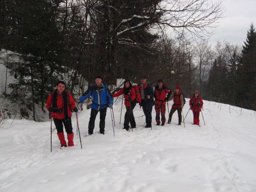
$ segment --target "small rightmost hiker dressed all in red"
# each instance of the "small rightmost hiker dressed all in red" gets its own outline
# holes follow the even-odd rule
[[[201,108],[203,107],[203,104],[204,104],[203,100],[199,95],[198,90],[196,90],[195,94],[189,100],[189,105],[194,116],[194,124],[199,125],[199,122],[200,122],[199,115],[200,115]]]

